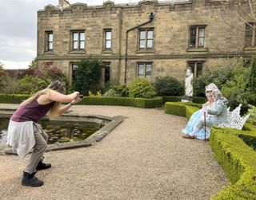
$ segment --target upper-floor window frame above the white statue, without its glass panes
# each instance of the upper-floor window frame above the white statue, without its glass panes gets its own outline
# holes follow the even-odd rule
[[[189,26],[189,49],[204,49],[206,48],[206,26],[207,25],[190,25]],[[195,29],[195,45],[191,45],[191,29]],[[199,29],[204,30],[203,37],[199,35]],[[199,45],[200,38],[203,38],[203,45]]]

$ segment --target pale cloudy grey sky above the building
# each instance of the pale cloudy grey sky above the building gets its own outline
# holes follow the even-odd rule
[[[69,0],[87,6],[103,5],[99,0]],[[136,3],[136,0],[111,0]],[[58,5],[58,0],[0,0],[0,63],[4,69],[26,69],[37,56],[37,11]]]

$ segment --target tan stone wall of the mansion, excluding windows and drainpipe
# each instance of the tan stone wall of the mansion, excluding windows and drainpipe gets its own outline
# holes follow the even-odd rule
[[[175,76],[184,80],[188,61],[204,61],[203,70],[225,65],[226,59],[234,56],[250,57],[254,52],[244,51],[245,24],[235,16],[230,23],[236,29],[214,18],[216,10],[210,0],[162,3],[154,0],[138,4],[104,2],[102,6],[72,4],[60,10],[48,5],[38,11],[38,62],[52,61],[62,69],[70,80],[70,63],[92,57],[110,62],[110,79],[125,81],[126,31],[136,25],[154,20],[140,28],[154,29],[154,48],[138,50],[138,29],[128,33],[127,82],[137,77],[138,62],[152,62],[152,80],[157,76]],[[204,49],[189,49],[190,25],[206,25]],[[86,32],[85,51],[71,50],[71,30]],[[112,49],[104,51],[104,29],[112,29]],[[54,33],[54,50],[45,52],[45,32]]]

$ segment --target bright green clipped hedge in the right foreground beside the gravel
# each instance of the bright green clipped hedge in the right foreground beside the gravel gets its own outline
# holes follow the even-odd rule
[[[212,128],[210,147],[230,185],[212,199],[256,199],[256,152],[238,137],[243,131]],[[255,134],[255,132],[254,132]]]

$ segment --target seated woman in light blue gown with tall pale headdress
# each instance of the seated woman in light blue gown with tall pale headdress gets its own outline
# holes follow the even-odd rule
[[[218,89],[218,87],[211,83],[206,86],[206,97],[207,102],[206,104],[202,104],[202,109],[198,110],[197,112],[194,112],[192,116],[190,116],[190,120],[186,124],[186,127],[182,130],[182,133],[185,135],[189,135],[193,130],[194,126],[197,123],[197,121],[200,119],[200,117],[203,115],[203,108],[212,108],[214,105],[214,96],[212,95],[212,91],[214,89]],[[210,116],[210,115],[208,115]],[[212,116],[214,117],[214,116]],[[202,127],[197,134],[195,135],[196,139],[205,139],[205,129]],[[210,138],[210,127],[206,127],[206,139]]]

